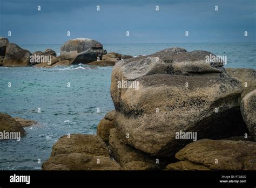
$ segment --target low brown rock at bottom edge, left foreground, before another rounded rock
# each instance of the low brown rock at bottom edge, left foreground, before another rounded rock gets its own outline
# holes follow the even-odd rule
[[[43,170],[121,170],[120,165],[104,156],[73,152],[50,157],[42,165]]]

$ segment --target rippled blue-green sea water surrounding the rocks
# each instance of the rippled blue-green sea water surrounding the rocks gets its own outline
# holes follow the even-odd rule
[[[31,52],[51,48],[59,54],[61,45],[20,46]],[[107,52],[134,56],[170,47],[227,55],[225,67],[256,69],[256,43],[104,44]],[[0,67],[0,112],[37,121],[25,128],[26,135],[21,141],[0,142],[0,170],[40,170],[60,136],[96,134],[99,121],[114,109],[111,72],[112,67],[82,64],[54,68]]]

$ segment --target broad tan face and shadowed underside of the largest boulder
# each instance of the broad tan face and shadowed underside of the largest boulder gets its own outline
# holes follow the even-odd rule
[[[115,73],[113,69],[116,128],[124,142],[150,155],[173,156],[192,142],[177,140],[180,130],[196,132],[197,139],[239,136],[248,131],[239,109],[242,87],[235,79],[153,74],[137,79],[136,90],[116,88],[119,75]],[[130,135],[127,139],[126,134]]]

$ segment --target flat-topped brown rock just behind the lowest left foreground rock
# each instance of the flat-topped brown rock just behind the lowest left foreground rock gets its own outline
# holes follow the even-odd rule
[[[52,146],[51,156],[78,152],[86,155],[109,157],[109,150],[102,138],[95,135],[65,135]]]

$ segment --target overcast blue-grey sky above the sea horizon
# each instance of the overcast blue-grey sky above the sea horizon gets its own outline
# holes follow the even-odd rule
[[[0,26],[19,45],[255,42],[256,0],[0,0]]]

